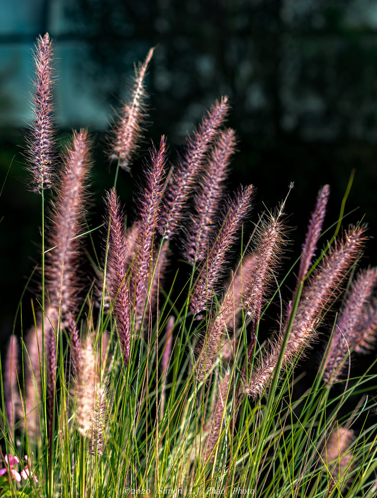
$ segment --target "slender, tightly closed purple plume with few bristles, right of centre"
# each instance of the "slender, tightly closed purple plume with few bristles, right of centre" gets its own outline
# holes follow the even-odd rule
[[[319,236],[321,235],[321,230],[322,230],[323,220],[326,214],[326,206],[329,195],[330,195],[329,185],[324,185],[318,192],[314,210],[311,213],[309,225],[307,227],[305,242],[303,243],[302,246],[302,255],[300,259],[299,273],[297,275],[296,291],[300,282],[305,278],[306,273],[311,264],[311,261],[313,259],[317,242]]]

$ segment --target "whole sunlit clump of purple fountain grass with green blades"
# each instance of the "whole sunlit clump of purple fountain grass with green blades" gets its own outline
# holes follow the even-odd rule
[[[83,276],[91,138],[55,145],[53,51],[38,39],[25,156],[41,196],[41,284],[34,323],[22,320],[2,359],[0,497],[375,497],[377,385],[371,367],[353,374],[377,329],[377,269],[359,269],[366,227],[341,227],[344,202],[326,227],[320,188],[288,290],[288,196],[248,233],[254,187],[226,193],[227,97],[174,164],[168,137],[151,145],[126,226],[117,178],[144,132],[152,53],[108,140],[114,185]],[[297,366],[309,355],[308,387]]]

